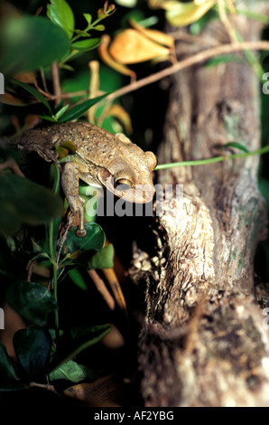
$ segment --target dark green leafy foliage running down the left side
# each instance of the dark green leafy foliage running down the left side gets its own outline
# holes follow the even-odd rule
[[[67,62],[74,56],[96,49],[100,38],[92,37],[91,32],[104,31],[102,22],[114,13],[115,6],[106,2],[97,10],[96,20],[92,14],[84,14],[86,26],[82,30],[76,28],[74,13],[65,0],[51,0],[47,6],[47,16],[23,15],[6,18],[1,24],[0,68],[5,73],[9,96],[7,101],[4,96],[3,101],[10,103],[12,99],[14,115],[15,105],[22,105],[18,101],[21,98],[25,107],[37,103],[39,108],[39,116],[28,119],[26,115],[22,127],[20,118],[14,120],[16,133],[11,140],[31,127],[32,122],[83,119],[88,109],[107,96],[105,93],[78,103],[62,99],[55,104],[49,90],[40,88],[40,81],[47,79],[52,86],[51,67],[55,63],[59,70],[70,70]],[[30,43],[31,49],[25,54]],[[39,70],[42,79],[37,77]],[[17,112],[18,117],[20,113]],[[71,140],[58,146],[60,157],[75,150]],[[79,268],[113,267],[113,247],[103,248],[106,235],[96,222],[85,224],[84,238],[76,236],[76,228],[61,232],[64,200],[59,165],[52,164],[50,170],[44,167],[42,175],[39,161],[35,165],[31,156],[20,155],[10,146],[1,148],[0,165],[5,165],[10,157],[14,157],[26,177],[11,173],[5,166],[0,175],[0,275],[5,282],[5,302],[23,318],[26,327],[14,334],[15,365],[0,344],[0,391],[25,389],[32,381],[45,384],[47,379],[55,385],[63,380],[92,380],[96,377],[94,364],[79,364],[75,357],[97,345],[110,332],[110,326],[86,323],[61,329],[58,284],[73,282],[74,288],[88,290]],[[42,269],[41,275],[38,268]]]

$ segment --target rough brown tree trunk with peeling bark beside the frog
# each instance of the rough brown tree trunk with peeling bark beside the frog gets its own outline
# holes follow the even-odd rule
[[[266,5],[240,7],[263,13]],[[244,16],[234,24],[244,40],[260,39],[261,24]],[[213,21],[202,37],[228,42],[224,34]],[[230,141],[257,149],[259,90],[242,62],[179,72],[159,163],[221,155],[220,146]],[[250,157],[158,172],[158,183],[183,184],[183,200],[165,202],[156,218],[156,255],[135,252],[130,269],[144,290],[139,367],[146,406],[269,406],[269,337],[253,266],[265,237],[258,162]]]

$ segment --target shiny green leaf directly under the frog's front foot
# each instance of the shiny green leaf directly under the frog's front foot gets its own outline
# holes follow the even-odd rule
[[[69,253],[101,250],[106,241],[106,235],[103,229],[96,222],[85,223],[85,229],[87,235],[84,238],[79,238],[75,231],[69,231],[63,250],[67,250]]]

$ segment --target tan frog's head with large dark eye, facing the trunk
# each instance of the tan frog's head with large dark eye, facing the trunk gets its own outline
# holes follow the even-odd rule
[[[128,147],[128,155],[124,158],[118,157],[110,164],[108,170],[100,171],[98,175],[100,183],[127,202],[149,203],[155,193],[153,169],[157,164],[156,156],[153,152],[144,152],[134,144]]]

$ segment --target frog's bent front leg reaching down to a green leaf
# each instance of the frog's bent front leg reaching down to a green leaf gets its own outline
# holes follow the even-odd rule
[[[61,186],[66,199],[70,205],[70,212],[73,216],[79,213],[79,228],[76,235],[82,238],[86,235],[84,227],[84,199],[79,196],[79,175],[85,173],[88,168],[85,165],[68,162],[63,165],[61,172]]]

